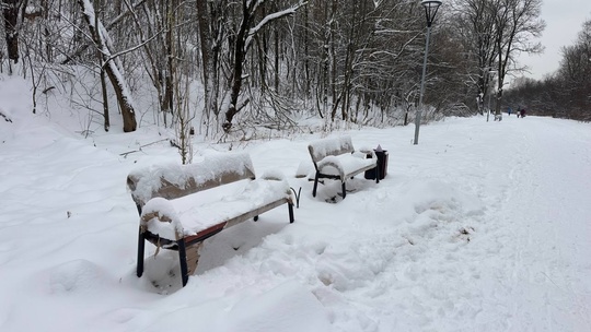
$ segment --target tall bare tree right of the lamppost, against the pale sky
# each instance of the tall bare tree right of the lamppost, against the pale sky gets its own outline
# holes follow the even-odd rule
[[[466,82],[476,91],[478,109],[496,80],[495,114],[500,115],[506,75],[519,70],[519,52],[540,52],[532,39],[541,35],[545,23],[540,20],[542,0],[456,0],[452,25],[463,44]]]

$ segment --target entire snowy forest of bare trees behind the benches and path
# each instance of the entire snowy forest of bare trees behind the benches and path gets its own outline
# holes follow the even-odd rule
[[[144,122],[174,129],[183,163],[190,162],[193,133],[227,141],[405,126],[419,107],[420,1],[0,4],[0,73],[32,82],[33,112],[72,109],[85,134],[108,131],[114,114],[125,132]],[[555,73],[514,79],[525,70],[515,61],[521,54],[543,51],[536,43],[545,26],[541,5],[444,1],[430,34],[425,120],[512,107],[590,121],[591,20],[564,47]],[[57,105],[63,96],[69,105]]]

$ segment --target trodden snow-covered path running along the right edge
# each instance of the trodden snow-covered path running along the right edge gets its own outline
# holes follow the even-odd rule
[[[518,121],[519,122],[519,121]],[[514,124],[514,123],[511,123]],[[588,128],[546,119],[519,123],[521,156],[501,205],[499,283],[510,295],[507,330],[591,327],[591,140]],[[510,213],[508,213],[510,212]]]

